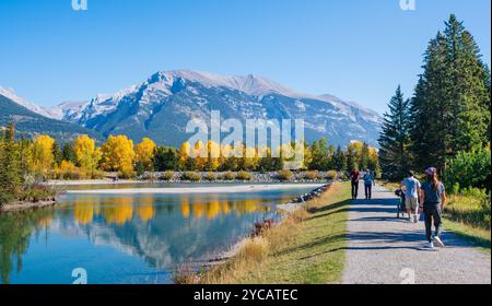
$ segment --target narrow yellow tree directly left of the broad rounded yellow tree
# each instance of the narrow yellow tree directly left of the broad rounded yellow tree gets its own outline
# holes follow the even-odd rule
[[[102,157],[95,141],[86,134],[80,136],[73,142],[73,151],[77,164],[81,167],[83,174],[94,178],[97,174],[97,164]]]

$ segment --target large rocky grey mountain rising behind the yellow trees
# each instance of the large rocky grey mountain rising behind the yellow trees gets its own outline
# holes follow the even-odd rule
[[[139,85],[62,103],[49,114],[104,136],[179,145],[191,136],[185,133],[186,123],[194,118],[209,122],[211,110],[220,110],[222,119],[304,119],[307,141],[326,137],[342,145],[350,140],[377,145],[382,122],[377,113],[332,95],[297,93],[261,76],[189,70],[157,72]]]

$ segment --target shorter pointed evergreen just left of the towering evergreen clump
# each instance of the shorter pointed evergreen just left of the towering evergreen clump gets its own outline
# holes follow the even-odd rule
[[[400,178],[409,170],[408,148],[411,119],[409,104],[409,101],[403,97],[401,87],[398,86],[395,96],[389,101],[389,113],[384,114],[383,129],[378,140],[379,163],[383,175],[388,178]]]

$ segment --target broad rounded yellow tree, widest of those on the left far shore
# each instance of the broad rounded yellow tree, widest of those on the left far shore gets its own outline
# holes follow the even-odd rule
[[[101,146],[101,162],[105,170],[119,172],[122,177],[133,176],[133,141],[126,136],[109,136]]]

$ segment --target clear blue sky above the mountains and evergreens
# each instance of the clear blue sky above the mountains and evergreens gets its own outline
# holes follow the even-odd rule
[[[450,13],[491,62],[490,0],[0,1],[0,85],[51,106],[112,93],[159,70],[258,74],[379,113],[410,95]]]

